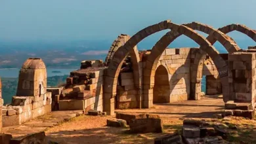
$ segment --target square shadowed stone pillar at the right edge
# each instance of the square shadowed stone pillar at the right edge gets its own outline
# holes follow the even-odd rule
[[[255,55],[256,52],[228,54],[229,85],[235,102],[255,102]]]

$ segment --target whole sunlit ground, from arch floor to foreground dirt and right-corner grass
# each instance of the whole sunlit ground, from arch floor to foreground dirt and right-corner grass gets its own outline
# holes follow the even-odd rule
[[[256,122],[245,118],[215,118],[223,111],[223,101],[219,98],[203,98],[200,101],[182,101],[154,105],[154,109],[117,110],[122,113],[151,113],[160,115],[163,120],[163,134],[128,134],[127,128],[106,126],[107,117],[82,115],[49,128],[47,137],[59,143],[154,143],[154,138],[173,132],[181,132],[182,121],[186,118],[219,122],[230,132],[226,137],[232,143],[256,143]]]

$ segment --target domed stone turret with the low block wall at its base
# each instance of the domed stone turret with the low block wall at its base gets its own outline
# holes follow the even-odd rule
[[[47,92],[47,72],[41,58],[29,58],[22,65],[16,96],[2,107],[3,126],[16,126],[51,112],[52,96]]]

